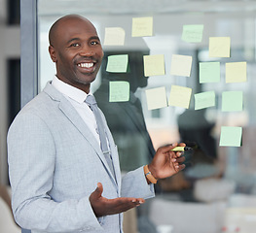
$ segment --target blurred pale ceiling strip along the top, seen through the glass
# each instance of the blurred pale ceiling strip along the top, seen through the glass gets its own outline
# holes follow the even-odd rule
[[[38,0],[40,16],[69,13],[129,15],[166,13],[255,13],[256,0]]]

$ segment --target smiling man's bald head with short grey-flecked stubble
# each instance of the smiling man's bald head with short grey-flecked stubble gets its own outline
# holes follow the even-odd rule
[[[89,92],[104,55],[91,21],[76,15],[59,18],[50,29],[49,43],[57,78]]]

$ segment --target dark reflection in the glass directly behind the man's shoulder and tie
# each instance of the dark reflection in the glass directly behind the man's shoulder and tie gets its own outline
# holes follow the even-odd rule
[[[146,128],[141,102],[134,92],[138,87],[147,86],[143,75],[142,57],[149,50],[119,51],[128,54],[128,72],[111,73],[106,71],[107,57],[117,52],[105,52],[101,65],[101,85],[94,92],[97,104],[106,116],[108,126],[118,146],[122,171],[130,171],[148,164],[155,150]],[[125,81],[129,83],[129,99],[124,102],[109,102],[109,83]]]

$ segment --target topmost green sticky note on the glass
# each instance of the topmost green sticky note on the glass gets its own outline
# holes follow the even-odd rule
[[[202,24],[183,25],[181,40],[184,42],[200,43],[202,39]]]

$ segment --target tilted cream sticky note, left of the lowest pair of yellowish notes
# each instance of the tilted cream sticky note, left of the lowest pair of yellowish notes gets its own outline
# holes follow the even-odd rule
[[[167,107],[165,86],[147,89],[145,92],[148,110]]]

